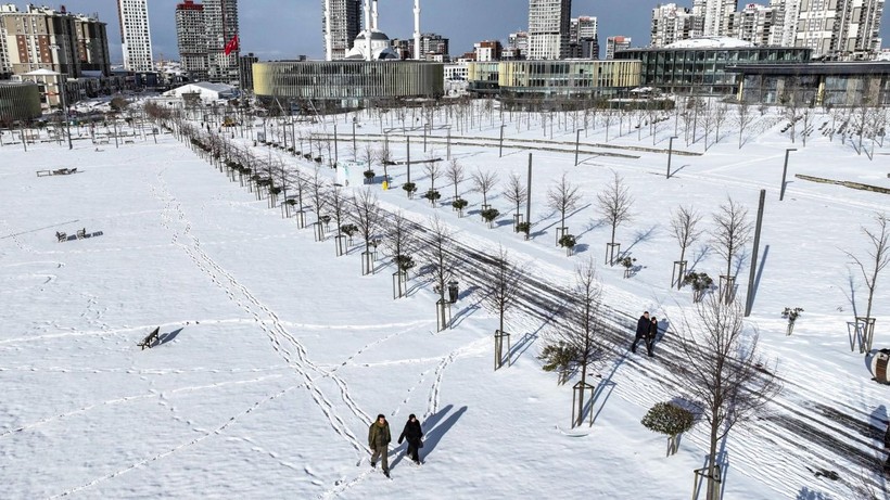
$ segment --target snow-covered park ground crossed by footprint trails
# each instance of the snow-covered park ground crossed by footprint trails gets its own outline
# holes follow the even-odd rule
[[[377,117],[358,119],[359,140],[380,132]],[[793,175],[890,188],[890,145],[875,145],[869,161],[849,138],[841,144],[840,137],[829,141],[822,134],[819,126],[830,123],[822,115],[806,146],[800,138],[792,144],[771,112],[752,124],[741,150],[737,129],[728,125],[707,153],[674,154],[675,174],[665,179],[673,119],[662,125],[654,145],[648,132],[638,140],[626,125],[616,138],[612,124],[608,144],[621,148],[609,149],[600,146],[607,143],[600,124],[581,136],[578,166],[574,130],[557,127],[551,140],[534,119],[519,127],[508,121],[503,157],[497,148],[452,146],[468,172],[498,172],[492,204],[505,215],[494,229],[475,213],[482,198],[469,192],[469,180],[460,187],[470,202],[463,218],[448,206],[453,188],[444,179],[442,206],[408,200],[398,189],[404,167],[390,168],[395,189],[373,188],[381,205],[417,221],[437,215],[471,249],[495,252],[500,244],[526,262],[534,280],[554,286],[570,286],[575,266],[593,259],[605,302],[627,324],[630,344],[631,325],[644,309],[669,321],[690,309],[691,292],[670,286],[679,252],[671,211],[695,206],[710,231],[711,214],[732,196],[753,221],[765,189],[762,269],[749,325],[759,330],[763,352],[777,361],[784,392],[766,418],[734,430],[723,443],[724,498],[852,498],[855,476],[885,458],[890,393],[870,380],[864,357],[851,351],[848,322],[854,307],[864,310],[866,291],[846,252],[864,255],[868,246],[860,228],[873,227],[874,215],[888,211],[890,196]],[[308,127],[301,133],[308,134]],[[322,130],[321,124],[313,127]],[[341,125],[341,134],[347,128]],[[499,131],[498,118],[484,118],[472,130],[454,127],[452,139],[470,143]],[[232,133],[251,143],[247,132],[243,140],[240,130]],[[412,158],[425,157],[422,131],[412,134]],[[444,155],[445,132],[436,134],[436,152]],[[404,158],[400,136],[392,134],[396,159]],[[533,152],[531,241],[512,232],[512,210],[501,195],[508,172],[524,179],[527,168],[527,151],[511,146],[517,139],[562,142],[549,145],[564,150]],[[336,257],[331,238],[315,242],[312,229],[281,218],[278,208],[229,182],[185,143],[170,134],[157,142],[137,138],[116,149],[112,140],[97,151],[84,137],[73,151],[48,142],[29,144],[26,152],[4,137],[0,497],[691,495],[692,471],[704,464],[708,449],[704,425],[665,458],[664,436],[639,423],[653,403],[682,396],[665,364],[676,357],[670,332],[656,358],[622,349],[602,367],[595,423],[572,428],[571,388],[558,386],[535,357],[547,329],[541,317],[523,312],[508,319],[513,362],[494,372],[497,318],[481,306],[479,289],[467,286],[469,277],[461,280],[454,326],[436,332],[437,296],[430,285],[415,281],[407,298],[394,300],[386,260],[378,261],[376,274],[360,275],[358,246]],[[703,152],[701,141],[686,145],[676,139],[673,146]],[[779,202],[787,148],[797,151]],[[348,157],[345,149],[342,143],[341,157]],[[312,169],[277,150],[256,152]],[[62,167],[78,172],[35,175]],[[545,206],[547,189],[563,172],[583,196],[568,221],[580,243],[572,257],[555,246],[558,216]],[[596,210],[596,194],[613,172],[635,198],[634,220],[618,230],[622,249],[641,266],[631,279],[602,266],[610,230]],[[419,167],[412,180],[420,192],[429,187]],[[56,242],[55,231],[74,235],[78,229],[90,238]],[[725,264],[708,240],[692,248],[690,260],[716,277]],[[740,296],[747,293],[750,249],[738,269]],[[889,281],[880,277],[875,296],[877,348],[890,343]],[[785,307],[804,309],[791,336],[780,317]],[[140,350],[136,344],[156,326],[161,344]],[[418,414],[427,433],[424,465],[411,464],[404,445],[393,443],[393,480],[370,469],[367,431],[378,413],[387,416],[394,438],[407,415]],[[817,471],[835,471],[839,479]],[[876,488],[886,488],[880,476],[865,474]]]

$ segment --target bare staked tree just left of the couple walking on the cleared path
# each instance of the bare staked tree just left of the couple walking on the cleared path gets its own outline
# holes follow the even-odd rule
[[[544,334],[545,344],[539,358],[548,361],[545,369],[560,369],[563,381],[575,371],[581,374],[573,426],[584,422],[588,368],[605,361],[613,348],[606,336],[600,311],[601,289],[593,260],[578,266],[575,269],[575,285],[569,291],[565,308],[560,311],[554,326]]]

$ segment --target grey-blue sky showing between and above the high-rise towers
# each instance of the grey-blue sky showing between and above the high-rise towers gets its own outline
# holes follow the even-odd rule
[[[24,9],[21,0],[12,1]],[[177,3],[180,0],[149,0],[155,59],[179,59],[174,22]],[[599,18],[599,43],[605,53],[606,38],[614,35],[632,37],[634,47],[647,46],[651,11],[658,3],[657,0],[574,0],[572,16]],[[676,3],[692,7],[691,0]],[[740,5],[743,3],[739,1]],[[768,0],[760,3],[768,4]],[[321,0],[241,0],[241,52],[254,52],[260,60],[293,59],[301,54],[322,59],[321,4]],[[67,0],[64,5],[69,12],[98,13],[99,18],[109,24],[112,61],[123,61],[116,0]],[[383,33],[390,38],[411,38],[414,0],[379,0],[378,5]],[[473,42],[481,40],[506,42],[510,33],[523,30],[529,24],[527,0],[421,0],[420,7],[421,31],[449,38],[452,55],[471,51]],[[890,22],[885,18],[881,25],[883,47],[887,47]]]

